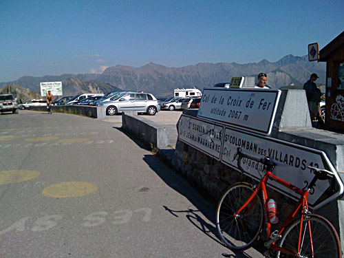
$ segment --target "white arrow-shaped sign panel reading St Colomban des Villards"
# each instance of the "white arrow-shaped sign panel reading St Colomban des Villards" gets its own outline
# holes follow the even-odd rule
[[[336,191],[339,191],[339,189],[341,189],[341,192],[343,192],[343,186],[339,187],[341,180],[336,173],[336,169],[334,169],[323,151],[310,149],[267,136],[257,136],[255,134],[237,131],[236,129],[226,128],[224,132],[221,160],[235,169],[238,169],[237,160],[235,160],[235,153],[238,147],[241,147],[243,153],[255,158],[269,157],[277,164],[273,174],[300,189],[308,186],[314,177],[314,173],[311,173],[308,166],[315,166],[320,169],[332,171],[336,176],[334,180],[334,182],[336,182],[336,187],[331,189],[333,185],[330,185],[328,180],[319,180],[316,182],[316,186],[308,197],[308,202],[314,208],[319,208],[319,206],[323,206],[325,203],[330,202],[330,200],[340,195],[338,192],[334,194],[332,192],[333,190],[336,189]],[[243,159],[241,166],[250,177],[257,180],[260,180],[261,176],[264,175],[264,167],[260,163],[257,164],[257,162],[252,160]],[[299,195],[296,195],[289,189],[283,188],[281,184],[277,184],[272,180],[270,180],[269,183],[277,191],[294,197],[294,199],[299,199]],[[320,198],[321,200],[319,200]]]

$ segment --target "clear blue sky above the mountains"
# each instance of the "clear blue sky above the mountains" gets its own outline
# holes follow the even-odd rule
[[[330,43],[343,13],[343,0],[0,0],[0,82],[150,62],[275,62]]]

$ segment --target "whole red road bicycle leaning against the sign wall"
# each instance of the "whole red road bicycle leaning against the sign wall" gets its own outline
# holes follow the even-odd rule
[[[311,214],[308,210],[307,197],[314,188],[317,180],[329,180],[333,173],[324,169],[309,166],[314,178],[305,189],[299,189],[289,182],[272,175],[275,168],[269,158],[255,158],[242,153],[237,149],[238,168],[241,159],[248,158],[266,166],[266,173],[257,185],[238,182],[230,186],[222,196],[217,206],[217,231],[228,248],[231,250],[246,250],[259,239],[264,228],[264,221],[268,233],[268,241],[264,246],[268,254],[275,257],[302,257],[302,258],[339,258],[341,257],[341,244],[334,226],[325,217]],[[266,183],[268,180],[286,186],[288,189],[301,195],[290,215],[279,230],[271,231],[268,219],[268,193]],[[299,213],[299,219],[295,217]],[[274,250],[274,251],[271,251]]]

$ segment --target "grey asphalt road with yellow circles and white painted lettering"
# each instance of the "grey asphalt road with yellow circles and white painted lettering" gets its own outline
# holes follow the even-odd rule
[[[0,257],[262,257],[225,248],[214,206],[117,125],[0,116]]]

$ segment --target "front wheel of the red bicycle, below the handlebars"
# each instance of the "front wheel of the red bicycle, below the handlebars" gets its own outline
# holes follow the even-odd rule
[[[216,228],[226,246],[232,250],[250,248],[258,239],[264,224],[263,203],[259,195],[237,215],[255,191],[251,184],[237,183],[230,186],[217,206]]]

